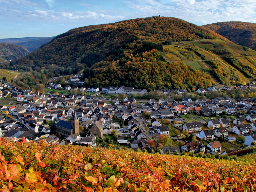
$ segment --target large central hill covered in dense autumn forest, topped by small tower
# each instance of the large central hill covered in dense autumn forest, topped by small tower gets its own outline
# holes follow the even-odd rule
[[[229,42],[215,32],[176,18],[126,20],[72,29],[10,66],[37,72],[44,69],[46,76],[71,75],[85,69],[86,84],[99,87],[124,84],[136,88],[192,89],[199,84],[211,86],[214,81],[185,63],[166,62],[159,51],[162,44],[203,38]]]

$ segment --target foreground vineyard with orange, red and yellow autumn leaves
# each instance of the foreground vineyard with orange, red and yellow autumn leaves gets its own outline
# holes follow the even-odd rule
[[[0,144],[0,187],[6,192],[256,189],[255,155],[234,161],[3,138]]]

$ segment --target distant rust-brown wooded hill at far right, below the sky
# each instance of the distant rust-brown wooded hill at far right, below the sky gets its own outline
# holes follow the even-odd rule
[[[236,44],[256,49],[256,23],[231,21],[212,23],[202,27],[215,31]]]

